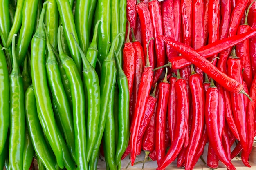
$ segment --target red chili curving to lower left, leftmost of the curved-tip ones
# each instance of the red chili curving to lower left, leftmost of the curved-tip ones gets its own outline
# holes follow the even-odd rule
[[[189,99],[186,88],[186,81],[180,77],[179,71],[177,75],[177,81],[175,82],[175,90],[177,94],[179,94],[177,95],[178,107],[176,131],[173,142],[157,170],[165,169],[171,162],[175,160],[180,150],[182,149],[186,135],[186,126],[188,124],[189,116]]]

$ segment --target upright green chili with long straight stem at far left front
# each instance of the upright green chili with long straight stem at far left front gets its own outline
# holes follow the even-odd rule
[[[13,69],[9,75],[10,89],[10,141],[9,163],[13,170],[23,169],[23,148],[25,141],[24,89],[20,68],[15,55],[15,37],[13,35]]]

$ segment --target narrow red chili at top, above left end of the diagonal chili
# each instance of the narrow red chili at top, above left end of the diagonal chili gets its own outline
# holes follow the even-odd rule
[[[182,29],[181,29],[181,5],[180,0],[173,0],[173,9],[175,12],[173,13],[174,16],[174,27],[175,27],[175,37],[176,41],[182,42]]]

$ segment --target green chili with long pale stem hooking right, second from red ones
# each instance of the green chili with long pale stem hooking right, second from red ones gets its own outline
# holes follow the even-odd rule
[[[99,127],[98,127],[98,134],[96,139],[96,144],[94,146],[94,150],[92,152],[89,168],[94,167],[95,160],[97,159],[97,155],[99,152],[99,146],[101,144],[101,139],[103,136],[105,123],[106,123],[106,116],[108,113],[108,102],[111,93],[112,83],[115,76],[115,59],[114,59],[114,46],[117,38],[123,33],[119,33],[116,35],[115,39],[113,40],[111,49],[104,59],[101,68],[101,81],[100,81],[100,94],[101,94],[101,113],[99,117]]]

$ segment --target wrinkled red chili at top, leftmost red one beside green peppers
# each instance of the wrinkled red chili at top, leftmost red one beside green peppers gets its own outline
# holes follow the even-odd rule
[[[137,19],[136,3],[137,3],[137,0],[126,0],[126,18],[130,22],[130,27],[133,30],[135,30],[136,19]],[[126,32],[128,31],[127,28],[128,28],[128,24],[126,24]],[[130,35],[132,34],[130,33]],[[129,37],[129,39],[131,40],[131,36]]]

